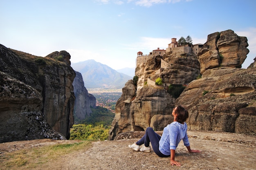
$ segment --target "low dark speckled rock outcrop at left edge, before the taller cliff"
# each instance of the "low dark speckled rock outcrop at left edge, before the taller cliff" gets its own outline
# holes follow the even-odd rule
[[[66,139],[45,121],[42,95],[0,71],[0,143],[30,139]]]

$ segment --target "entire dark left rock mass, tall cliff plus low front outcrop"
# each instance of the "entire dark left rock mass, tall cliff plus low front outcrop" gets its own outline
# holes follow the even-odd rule
[[[69,138],[75,100],[69,60],[66,51],[37,57],[0,45],[0,142]]]

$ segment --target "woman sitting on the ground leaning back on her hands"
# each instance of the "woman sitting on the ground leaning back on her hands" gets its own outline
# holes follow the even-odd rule
[[[153,128],[148,127],[145,135],[139,141],[129,145],[129,148],[135,151],[151,152],[149,146],[149,142],[151,142],[154,152],[159,157],[169,157],[171,155],[170,163],[172,166],[181,166],[179,162],[175,161],[175,150],[181,140],[183,140],[184,146],[186,146],[190,153],[200,152],[200,150],[191,150],[189,145],[189,138],[186,134],[187,125],[185,122],[189,117],[188,111],[182,106],[177,106],[173,108],[172,115],[174,117],[173,123],[168,124],[164,128],[162,137]],[[140,148],[142,144],[144,146]]]

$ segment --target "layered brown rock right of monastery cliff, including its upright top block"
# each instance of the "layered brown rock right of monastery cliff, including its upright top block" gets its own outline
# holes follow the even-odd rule
[[[247,46],[231,30],[208,36],[198,53],[202,78],[176,100],[189,110],[190,129],[256,134],[256,68],[240,69]]]

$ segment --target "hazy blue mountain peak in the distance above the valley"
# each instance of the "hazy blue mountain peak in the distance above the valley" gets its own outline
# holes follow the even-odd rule
[[[123,88],[131,76],[119,73],[95,60],[71,63],[72,68],[82,74],[86,88]]]

